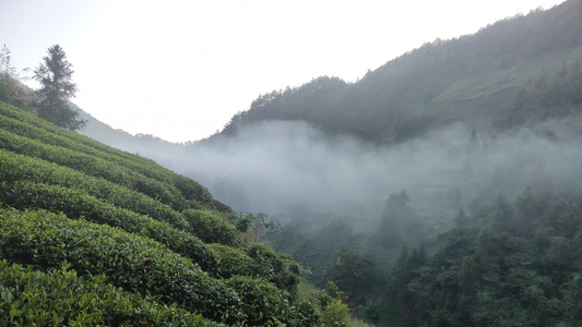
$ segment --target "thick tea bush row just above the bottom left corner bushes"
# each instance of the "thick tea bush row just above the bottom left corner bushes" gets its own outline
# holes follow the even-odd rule
[[[13,263],[58,268],[67,261],[78,271],[105,274],[127,291],[168,305],[177,302],[215,322],[295,325],[314,315],[306,305],[290,306],[289,295],[264,280],[212,278],[163,244],[108,226],[8,209],[1,211],[0,226],[0,252]],[[250,296],[249,288],[261,295]]]

